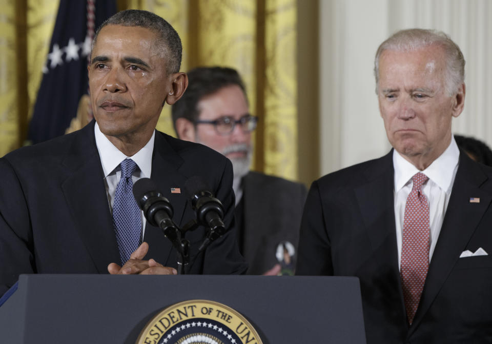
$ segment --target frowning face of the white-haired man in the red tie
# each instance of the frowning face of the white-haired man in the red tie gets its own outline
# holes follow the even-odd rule
[[[444,53],[437,46],[385,50],[379,59],[378,99],[386,135],[420,169],[447,148],[452,118],[463,110],[464,85],[449,96],[445,73]]]

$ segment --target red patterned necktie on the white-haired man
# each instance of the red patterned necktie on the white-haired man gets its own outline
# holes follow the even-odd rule
[[[406,198],[403,217],[400,276],[410,324],[419,306],[429,268],[429,207],[421,190],[428,179],[420,172],[412,177],[412,191]]]

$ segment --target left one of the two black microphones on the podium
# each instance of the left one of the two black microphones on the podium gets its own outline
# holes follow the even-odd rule
[[[133,196],[152,226],[160,227],[173,244],[179,242],[178,228],[173,220],[173,206],[149,178],[140,178],[133,185]]]

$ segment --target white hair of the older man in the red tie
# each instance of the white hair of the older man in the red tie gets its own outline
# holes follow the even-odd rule
[[[400,30],[381,43],[374,59],[376,94],[379,87],[379,58],[384,50],[412,51],[436,45],[444,50],[446,73],[444,76],[446,92],[452,96],[458,92],[465,79],[465,59],[456,43],[442,31],[425,29]]]

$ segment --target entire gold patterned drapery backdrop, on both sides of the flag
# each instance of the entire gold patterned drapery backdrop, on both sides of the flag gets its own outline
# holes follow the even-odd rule
[[[58,1],[4,0],[0,5],[2,156],[26,137]],[[183,42],[181,70],[236,68],[247,87],[251,111],[260,119],[254,169],[297,178],[295,0],[118,0],[117,5],[119,10],[152,11],[173,25]],[[157,129],[174,135],[169,106]]]

